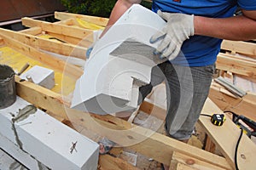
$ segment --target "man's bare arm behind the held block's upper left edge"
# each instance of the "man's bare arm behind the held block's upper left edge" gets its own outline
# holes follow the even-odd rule
[[[113,24],[119,20],[120,16],[125,13],[125,11],[131,7],[134,3],[141,3],[141,0],[118,0],[109,16],[108,25],[105,30],[102,32],[101,37],[108,31],[108,29],[113,26]]]

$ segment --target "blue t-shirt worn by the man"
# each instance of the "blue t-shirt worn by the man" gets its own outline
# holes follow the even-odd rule
[[[256,10],[256,0],[153,0],[152,9],[157,12],[195,14],[211,18],[227,18],[236,8]],[[172,60],[176,65],[212,65],[220,50],[222,40],[213,37],[193,36],[183,42],[180,54]]]

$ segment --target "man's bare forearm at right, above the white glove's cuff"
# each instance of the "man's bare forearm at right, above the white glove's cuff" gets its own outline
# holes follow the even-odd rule
[[[195,16],[195,35],[241,41],[256,39],[256,11],[242,10],[242,14],[225,19]]]

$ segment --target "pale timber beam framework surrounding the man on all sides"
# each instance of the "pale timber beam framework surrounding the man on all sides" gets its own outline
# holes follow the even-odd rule
[[[49,23],[22,18],[22,24],[29,28],[24,31],[0,29],[0,44],[2,47],[12,48],[20,54],[38,60],[55,71],[65,72],[65,76],[76,80],[83,74],[83,70],[78,65],[55,58],[52,54],[85,60],[84,54],[94,41],[95,31],[79,25],[78,19],[98,26],[106,26],[108,19],[61,12],[55,12],[55,18],[60,21]],[[45,38],[42,35],[49,35],[51,38]],[[224,41],[222,48],[232,53],[218,54],[217,68],[219,70],[230,71],[243,77],[249,77],[251,80],[256,80],[255,43]],[[252,58],[244,59],[234,53],[247,54]],[[234,151],[240,130],[229,117],[223,127],[212,125],[207,117],[201,116],[199,120],[201,127],[204,128],[210,139],[209,143],[216,144],[223,154],[223,156],[217,156],[207,150],[183,144],[163,134],[151,132],[148,128],[136,126],[115,116],[97,116],[72,110],[69,108],[70,100],[67,96],[63,97],[60,93],[42,88],[32,82],[20,81],[20,77],[15,77],[15,82],[17,94],[22,99],[26,99],[38,108],[47,111],[50,116],[54,116],[59,121],[70,125],[70,127],[73,127],[74,124],[78,125],[79,128],[73,128],[79,133],[83,133],[84,129],[90,130],[113,140],[121,146],[133,143],[136,139],[145,138],[142,142],[127,147],[144,156],[153,158],[155,161],[170,165],[170,169],[235,169]],[[230,94],[223,87],[212,82],[209,98],[204,106],[204,114],[212,115],[215,112],[222,112],[221,110],[229,110],[256,120],[256,115],[253,114],[256,109],[256,95],[253,93],[248,93],[242,98],[234,97],[234,94]],[[139,110],[163,120],[166,114],[164,107],[155,105],[149,99],[143,102]],[[69,113],[68,116],[67,112]],[[91,119],[97,123],[92,122]],[[71,120],[72,123],[70,123]],[[125,133],[109,133],[102,130],[99,125],[114,130],[125,130]],[[147,135],[148,133],[150,135]],[[255,169],[255,158],[256,145],[246,135],[243,135],[238,150],[240,169]],[[101,155],[98,169],[137,169],[137,167],[118,157]]]

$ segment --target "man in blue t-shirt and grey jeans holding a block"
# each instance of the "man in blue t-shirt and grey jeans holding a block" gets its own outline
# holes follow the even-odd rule
[[[141,1],[118,0],[103,32],[134,3]],[[237,8],[241,15],[234,16]],[[166,135],[187,143],[207,99],[222,39],[256,39],[256,1],[153,0],[152,9],[167,24],[150,42],[160,41],[155,54],[168,61],[153,68],[139,103],[165,80]]]

